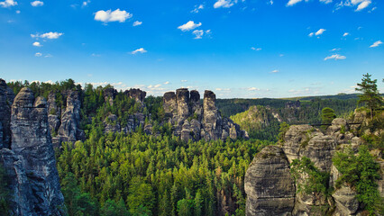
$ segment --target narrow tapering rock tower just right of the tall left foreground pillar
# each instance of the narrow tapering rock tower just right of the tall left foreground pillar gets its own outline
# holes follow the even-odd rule
[[[79,128],[80,106],[80,93],[78,91],[69,91],[67,106],[61,115],[58,136],[53,139],[55,147],[59,147],[61,142],[75,143],[77,140],[85,139],[84,131]]]

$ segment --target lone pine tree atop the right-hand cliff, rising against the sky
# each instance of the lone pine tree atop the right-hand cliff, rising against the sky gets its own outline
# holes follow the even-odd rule
[[[370,74],[362,75],[361,84],[357,84],[360,88],[355,88],[361,92],[358,103],[365,103],[370,109],[370,118],[373,119],[373,112],[382,104],[382,98],[379,94],[377,79],[371,80]]]

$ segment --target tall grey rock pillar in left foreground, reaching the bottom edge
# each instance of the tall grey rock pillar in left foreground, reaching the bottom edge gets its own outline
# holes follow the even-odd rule
[[[3,148],[1,160],[12,191],[14,215],[62,215],[64,197],[50,139],[47,102],[23,88],[12,106],[11,149]]]

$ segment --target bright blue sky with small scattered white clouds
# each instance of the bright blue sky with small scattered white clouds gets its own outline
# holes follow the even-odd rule
[[[381,0],[0,0],[0,77],[219,98],[384,92]]]

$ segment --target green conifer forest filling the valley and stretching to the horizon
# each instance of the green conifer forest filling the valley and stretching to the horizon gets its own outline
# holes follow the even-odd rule
[[[15,94],[23,86],[35,96],[54,93],[62,110],[67,100],[64,92],[80,93],[85,140],[63,142],[56,149],[69,215],[245,215],[244,175],[253,157],[276,144],[288,129],[283,122],[321,122],[325,107],[346,117],[357,104],[354,97],[314,98],[298,106],[280,99],[219,99],[220,111],[248,130],[251,139],[185,142],[164,121],[162,97],[147,96],[143,105],[120,91],[108,103],[104,92],[113,86],[83,88],[72,79],[8,85]],[[145,124],[151,123],[151,134],[144,125],[128,133],[105,131],[106,124],[126,123],[137,112],[144,115]],[[108,118],[112,114],[116,121]]]

